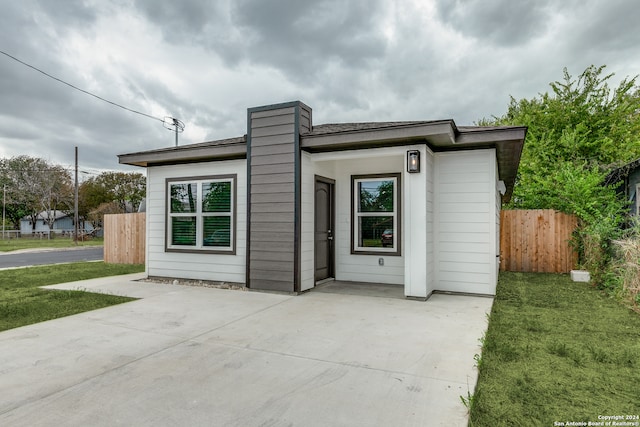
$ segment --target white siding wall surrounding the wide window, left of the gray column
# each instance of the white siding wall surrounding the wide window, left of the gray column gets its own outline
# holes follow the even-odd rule
[[[193,163],[147,169],[147,274],[185,279],[245,282],[247,162]],[[236,255],[165,252],[166,178],[237,174]]]

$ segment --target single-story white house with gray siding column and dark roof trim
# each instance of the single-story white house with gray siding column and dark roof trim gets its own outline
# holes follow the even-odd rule
[[[120,155],[147,168],[147,275],[495,294],[526,128],[311,116],[299,101],[250,108],[245,136]]]

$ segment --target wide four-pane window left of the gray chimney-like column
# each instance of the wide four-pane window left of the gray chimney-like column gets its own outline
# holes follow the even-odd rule
[[[167,180],[167,250],[235,253],[236,176]]]

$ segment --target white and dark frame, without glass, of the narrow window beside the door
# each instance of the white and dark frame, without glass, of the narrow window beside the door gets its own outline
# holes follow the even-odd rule
[[[352,175],[351,176],[351,253],[353,255],[401,255],[400,233],[400,173]],[[393,181],[393,212],[359,212],[360,192],[358,184],[361,182]],[[360,218],[363,217],[391,217],[393,218],[393,247],[360,246]]]

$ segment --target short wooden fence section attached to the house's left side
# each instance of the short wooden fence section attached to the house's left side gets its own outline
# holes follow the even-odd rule
[[[104,216],[104,262],[144,264],[146,214]]]

